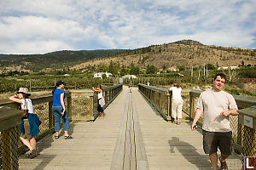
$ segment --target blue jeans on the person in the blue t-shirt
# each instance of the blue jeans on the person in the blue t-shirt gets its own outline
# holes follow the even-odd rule
[[[66,131],[69,129],[69,120],[67,117],[67,111],[65,111],[64,115],[61,115],[62,111],[62,106],[57,105],[57,106],[52,106],[52,112],[53,115],[55,116],[55,132],[60,131],[61,129],[61,119],[63,122],[63,130]]]

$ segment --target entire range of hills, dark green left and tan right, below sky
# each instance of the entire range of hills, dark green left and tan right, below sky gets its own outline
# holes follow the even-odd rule
[[[256,49],[206,46],[201,42],[183,40],[162,45],[152,45],[133,50],[83,50],[58,51],[49,54],[8,55],[0,54],[0,73],[7,71],[49,71],[55,69],[83,70],[87,65],[108,65],[111,61],[119,65],[131,63],[146,68],[155,65],[162,68],[172,66],[256,65]]]

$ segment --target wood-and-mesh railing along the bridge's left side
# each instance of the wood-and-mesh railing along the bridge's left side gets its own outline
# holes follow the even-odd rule
[[[105,108],[121,92],[122,85],[103,88],[106,99]],[[86,90],[85,90],[86,91]],[[87,90],[88,91],[88,90]],[[89,90],[90,91],[90,90]],[[79,97],[81,97],[79,103]],[[36,136],[39,141],[49,134],[54,133],[54,116],[52,113],[53,96],[51,93],[32,94],[32,104],[34,113],[42,124],[40,133]],[[84,103],[84,99],[86,102]],[[80,92],[66,92],[65,104],[67,105],[67,115],[72,122],[83,121],[83,116],[90,116],[90,121],[94,121],[99,113],[96,111],[97,95],[90,91],[88,94],[83,90]],[[18,156],[26,151],[26,146],[20,141],[20,111],[17,110],[19,104],[15,102],[0,103],[0,169],[18,169]],[[79,108],[79,109],[78,109]],[[86,109],[84,109],[86,108]]]

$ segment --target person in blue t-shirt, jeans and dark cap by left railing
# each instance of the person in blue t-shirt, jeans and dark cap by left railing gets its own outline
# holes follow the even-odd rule
[[[63,122],[63,131],[64,131],[64,138],[65,139],[73,139],[72,136],[70,136],[67,133],[67,130],[69,129],[69,120],[67,116],[67,111],[65,108],[65,91],[64,87],[66,85],[66,82],[63,82],[59,80],[56,82],[55,89],[53,90],[53,105],[52,105],[52,112],[55,116],[55,139],[60,138],[60,129],[61,129],[61,119]]]

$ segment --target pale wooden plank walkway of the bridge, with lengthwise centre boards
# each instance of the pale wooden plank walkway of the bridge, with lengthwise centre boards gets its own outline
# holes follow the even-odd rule
[[[34,159],[20,156],[20,169],[212,169],[202,150],[200,129],[189,122],[166,122],[137,88],[127,87],[105,110],[104,119],[71,123],[73,139],[49,136],[38,144]],[[236,154],[227,160],[230,169],[241,169]]]

